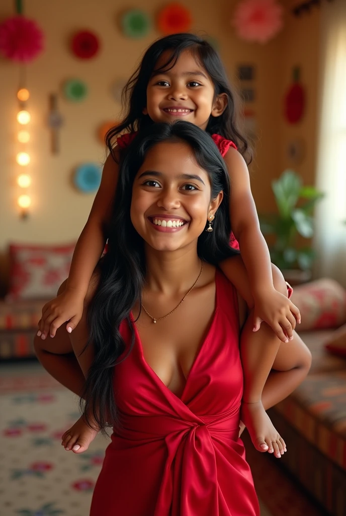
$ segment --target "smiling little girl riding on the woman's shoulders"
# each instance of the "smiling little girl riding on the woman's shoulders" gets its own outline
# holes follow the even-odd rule
[[[234,95],[218,54],[209,43],[193,34],[161,38],[146,51],[126,91],[127,114],[108,136],[110,156],[88,222],[78,239],[70,276],[60,295],[43,308],[39,335],[42,339],[48,333],[54,337],[56,329],[65,321],[68,321],[67,331],[71,332],[81,318],[92,272],[109,237],[119,150],[126,148],[136,131],[141,132],[154,122],[172,123],[182,119],[209,133],[226,161],[232,182],[228,199],[233,228],[231,240],[235,249],[240,246],[249,276],[253,329],[258,330],[263,319],[280,340],[288,343],[295,338],[293,330],[300,314],[289,301],[284,278],[278,270],[274,270],[276,279],[273,283],[269,251],[259,230],[243,157],[247,154],[247,141],[237,128]],[[118,138],[118,146],[114,148],[114,138],[123,131],[127,134]],[[233,261],[226,260],[220,267],[231,279]],[[299,345],[300,340],[296,344]],[[272,451],[271,441],[275,441],[277,434],[262,406],[261,397],[278,348],[279,341],[276,347],[266,346],[265,341],[251,347],[246,341],[241,349],[244,369],[242,417],[259,451]]]

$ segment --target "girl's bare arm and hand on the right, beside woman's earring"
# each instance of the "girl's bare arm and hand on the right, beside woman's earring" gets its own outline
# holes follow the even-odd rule
[[[299,310],[286,296],[274,288],[270,254],[259,228],[245,160],[239,152],[231,148],[226,154],[225,161],[231,180],[232,231],[239,243],[254,299],[254,330],[258,330],[261,320],[264,320],[276,335],[282,338],[279,325],[282,328],[288,328],[291,333],[295,327],[294,318],[297,320],[300,318]],[[227,277],[229,277],[230,267],[232,267],[231,261],[221,264]]]

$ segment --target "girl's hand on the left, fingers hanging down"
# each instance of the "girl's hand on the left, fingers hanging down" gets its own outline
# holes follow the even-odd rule
[[[53,338],[57,329],[66,321],[66,330],[71,333],[82,317],[83,303],[83,296],[68,290],[48,301],[42,309],[38,336],[44,340],[49,334]]]

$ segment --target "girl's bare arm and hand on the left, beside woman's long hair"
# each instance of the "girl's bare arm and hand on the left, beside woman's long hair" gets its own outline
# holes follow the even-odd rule
[[[83,300],[88,291],[90,278],[105,248],[106,228],[111,215],[117,179],[118,164],[110,154],[103,167],[101,184],[88,221],[77,241],[65,290],[57,298],[46,303],[42,309],[39,331],[43,339],[48,334],[54,337],[57,329],[66,321],[67,331],[71,333],[82,316]]]

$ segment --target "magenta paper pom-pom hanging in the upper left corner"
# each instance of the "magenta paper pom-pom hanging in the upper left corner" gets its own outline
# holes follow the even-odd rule
[[[0,25],[0,52],[11,61],[28,63],[43,50],[43,32],[24,16],[8,18]]]

